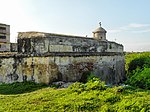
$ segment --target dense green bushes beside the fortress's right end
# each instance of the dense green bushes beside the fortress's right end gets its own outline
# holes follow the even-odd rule
[[[150,89],[150,52],[126,55],[127,84]]]

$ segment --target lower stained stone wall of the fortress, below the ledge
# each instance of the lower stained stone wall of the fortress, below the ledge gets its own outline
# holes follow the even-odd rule
[[[124,55],[27,55],[0,57],[0,82],[79,81],[85,72],[92,71],[106,83],[117,84],[125,78]]]

